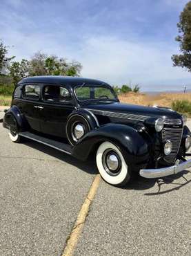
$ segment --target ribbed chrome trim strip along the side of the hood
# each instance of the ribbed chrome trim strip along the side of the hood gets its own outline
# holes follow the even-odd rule
[[[130,114],[130,113],[117,113],[117,112],[97,110],[97,109],[88,109],[88,110],[93,112],[94,114],[101,115],[101,116],[109,116],[111,118],[123,118],[123,119],[138,120],[138,121],[145,121],[148,118],[150,118],[149,116],[140,116],[140,115]]]

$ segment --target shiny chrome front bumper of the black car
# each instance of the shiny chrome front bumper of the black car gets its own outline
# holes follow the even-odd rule
[[[191,159],[182,163],[177,160],[175,165],[159,169],[141,169],[139,173],[142,177],[148,179],[161,178],[172,174],[177,174],[185,169],[188,169],[189,167],[191,167]]]

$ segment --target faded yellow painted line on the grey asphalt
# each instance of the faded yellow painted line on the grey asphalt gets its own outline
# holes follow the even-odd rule
[[[74,224],[72,232],[70,233],[70,238],[67,241],[66,248],[63,250],[62,256],[72,256],[74,253],[74,249],[77,246],[79,236],[81,235],[81,232],[83,230],[83,226],[85,224],[86,217],[90,209],[90,205],[97,192],[97,188],[99,187],[100,179],[100,175],[97,174],[97,176],[95,176],[94,178],[92,185],[90,186],[90,190],[88,192],[88,195],[86,196],[85,201],[83,202],[83,205],[81,206],[81,210],[79,211],[77,221]]]

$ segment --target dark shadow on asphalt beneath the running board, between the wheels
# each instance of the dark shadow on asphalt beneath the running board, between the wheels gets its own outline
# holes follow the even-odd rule
[[[66,162],[70,165],[74,165],[89,174],[97,174],[98,173],[97,166],[94,163],[93,156],[90,156],[90,158],[88,158],[87,161],[80,161],[77,158],[74,158],[73,156],[70,156],[66,153],[60,152],[57,149],[48,147],[41,143],[37,143],[34,140],[26,140],[25,139],[23,143],[25,145],[28,145],[28,147],[32,147],[33,149],[37,149],[40,152],[43,152],[45,154],[53,156],[54,158],[57,158],[57,160],[63,161],[63,163]]]

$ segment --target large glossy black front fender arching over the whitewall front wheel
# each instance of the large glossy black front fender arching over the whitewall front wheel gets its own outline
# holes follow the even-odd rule
[[[119,147],[128,165],[147,163],[148,143],[134,128],[127,125],[107,124],[88,132],[73,148],[73,155],[86,160],[92,150],[104,141],[110,141]]]

